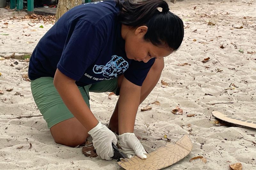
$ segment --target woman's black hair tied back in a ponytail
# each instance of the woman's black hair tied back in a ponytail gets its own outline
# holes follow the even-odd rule
[[[147,26],[148,31],[144,36],[146,41],[153,45],[166,44],[176,51],[183,40],[183,21],[169,11],[169,6],[164,0],[146,0],[133,3],[131,0],[115,0],[120,7],[119,20],[126,26],[136,28]],[[158,8],[162,8],[159,11]]]

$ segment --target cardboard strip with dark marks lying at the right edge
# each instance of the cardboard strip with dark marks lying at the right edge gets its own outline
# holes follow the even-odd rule
[[[256,129],[256,121],[244,120],[235,116],[224,115],[223,113],[220,113],[218,111],[213,111],[212,115],[225,122]]]

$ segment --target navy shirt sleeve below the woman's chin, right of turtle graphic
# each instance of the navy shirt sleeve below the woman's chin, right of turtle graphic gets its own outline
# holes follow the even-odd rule
[[[152,58],[148,63],[132,61],[128,69],[124,72],[124,77],[135,85],[142,86],[145,78],[148,75],[148,71],[155,62],[155,58]]]

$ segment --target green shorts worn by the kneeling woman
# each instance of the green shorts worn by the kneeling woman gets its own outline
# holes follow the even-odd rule
[[[117,78],[100,81],[91,85],[78,86],[85,103],[90,108],[89,92],[114,92],[119,94]],[[31,80],[31,91],[36,105],[50,129],[53,125],[74,117],[62,101],[53,85],[52,77]]]

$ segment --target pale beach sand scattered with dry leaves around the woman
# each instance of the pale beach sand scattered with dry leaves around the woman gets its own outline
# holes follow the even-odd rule
[[[184,0],[171,4],[171,11],[182,17],[189,28],[185,29],[180,50],[165,58],[161,79],[171,83],[171,86],[163,88],[159,81],[139,107],[136,135],[148,138],[148,141],[141,140],[148,152],[166,144],[163,140],[156,140],[164,138],[164,134],[172,142],[184,134],[191,138],[192,152],[169,169],[228,170],[230,164],[237,162],[242,163],[243,169],[256,169],[256,145],[244,140],[256,141],[256,137],[250,135],[255,134],[256,130],[210,123],[214,121],[211,116],[213,110],[256,121],[256,54],[247,54],[256,51],[256,1]],[[9,20],[14,15],[18,17],[25,14],[0,9],[0,34],[9,34],[0,35],[0,55],[32,53],[36,43],[52,26]],[[207,14],[206,17],[200,17],[204,14]],[[216,25],[208,26],[209,20]],[[5,22],[9,24],[4,25]],[[39,28],[40,25],[44,28]],[[244,28],[231,29],[240,26]],[[237,49],[231,43],[236,44]],[[222,44],[224,49],[219,47]],[[240,53],[239,49],[243,49],[244,53]],[[211,58],[210,61],[202,63],[207,57]],[[19,64],[11,67],[15,61]],[[191,66],[176,66],[178,63],[189,63]],[[21,70],[17,70],[17,67]],[[231,70],[233,68],[235,70]],[[217,69],[222,71],[217,72]],[[82,154],[82,148],[54,143],[42,117],[8,119],[40,115],[31,94],[30,83],[21,77],[27,71],[28,63],[14,59],[0,61],[0,90],[4,91],[0,95],[0,169],[121,169],[115,160],[87,158]],[[224,90],[231,83],[238,87]],[[12,87],[11,92],[6,91]],[[24,96],[14,95],[16,92]],[[204,96],[205,93],[213,96]],[[157,100],[161,106],[151,105],[152,110],[141,112],[140,109],[148,101],[154,102],[158,94]],[[92,93],[91,99],[92,112],[101,122],[108,123],[117,97],[113,96],[110,100],[108,93]],[[218,102],[234,103],[207,104]],[[183,115],[172,114],[171,111],[178,105],[184,110]],[[186,113],[196,116],[187,117]],[[31,149],[28,149],[29,143],[32,144]],[[23,148],[17,149],[20,146]],[[200,159],[189,162],[189,159],[199,155],[207,159],[206,164]]]

